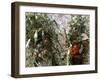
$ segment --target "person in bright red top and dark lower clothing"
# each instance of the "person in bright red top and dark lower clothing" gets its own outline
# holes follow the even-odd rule
[[[82,56],[79,53],[79,50],[80,50],[80,43],[74,42],[71,48],[71,64],[72,65],[82,64]]]

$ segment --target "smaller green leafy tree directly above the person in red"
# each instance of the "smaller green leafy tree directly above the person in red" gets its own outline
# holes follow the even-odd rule
[[[89,17],[83,15],[72,15],[69,22],[70,31],[68,33],[69,41],[82,41],[82,34],[86,33],[89,37]]]

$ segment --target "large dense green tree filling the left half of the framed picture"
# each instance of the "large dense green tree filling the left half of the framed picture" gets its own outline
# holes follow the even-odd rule
[[[33,55],[36,52],[35,65],[32,66],[60,64],[61,51],[57,47],[60,44],[56,28],[56,21],[47,14],[26,13],[26,43],[30,39],[29,49],[34,49],[31,51]]]

